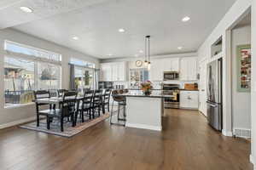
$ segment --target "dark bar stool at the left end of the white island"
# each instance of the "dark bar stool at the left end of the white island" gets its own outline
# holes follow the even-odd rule
[[[120,96],[118,90],[113,90],[112,92],[113,102],[118,103],[118,123],[112,122],[112,116],[113,116],[113,102],[112,102],[112,108],[111,108],[111,115],[110,115],[110,124],[111,125],[119,125],[125,127],[125,116],[126,116],[126,99],[125,96]],[[124,118],[120,118],[120,106],[123,106],[123,116]],[[119,122],[122,121],[122,122]]]

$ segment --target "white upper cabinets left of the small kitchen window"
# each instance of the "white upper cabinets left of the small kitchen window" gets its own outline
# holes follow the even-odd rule
[[[126,81],[126,62],[102,63],[100,69],[100,81]]]

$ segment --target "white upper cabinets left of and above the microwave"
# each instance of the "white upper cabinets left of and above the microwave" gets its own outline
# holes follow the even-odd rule
[[[163,81],[164,71],[179,71],[179,59],[153,59],[149,77],[151,81]]]

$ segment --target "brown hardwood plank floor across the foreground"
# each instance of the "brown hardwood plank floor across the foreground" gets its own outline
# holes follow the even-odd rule
[[[102,122],[66,139],[0,131],[0,169],[247,170],[250,144],[224,137],[197,111],[168,110],[162,133]]]

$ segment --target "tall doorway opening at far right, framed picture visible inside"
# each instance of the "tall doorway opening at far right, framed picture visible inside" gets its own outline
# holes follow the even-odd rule
[[[231,29],[232,132],[251,137],[251,13]]]

